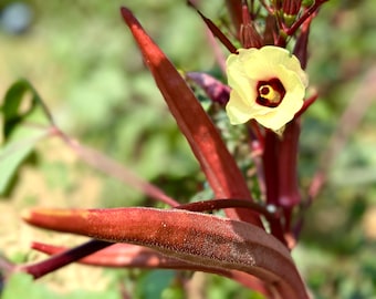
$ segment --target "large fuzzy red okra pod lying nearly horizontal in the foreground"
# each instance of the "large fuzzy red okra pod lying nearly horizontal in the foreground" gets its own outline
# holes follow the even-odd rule
[[[274,286],[282,298],[307,298],[290,252],[263,229],[243,221],[180,209],[38,209],[35,226],[129,243],[201,267],[248,272]]]

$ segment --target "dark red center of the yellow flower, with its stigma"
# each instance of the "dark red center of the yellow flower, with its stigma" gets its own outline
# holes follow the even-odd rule
[[[269,81],[259,81],[257,85],[258,97],[255,102],[267,107],[276,107],[281,104],[286,91],[276,78]]]

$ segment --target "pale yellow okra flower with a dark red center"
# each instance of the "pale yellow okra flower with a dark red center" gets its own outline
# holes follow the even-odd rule
[[[275,132],[283,130],[302,107],[307,86],[299,60],[274,45],[238,52],[227,60],[231,93],[226,110],[230,123],[254,118]]]

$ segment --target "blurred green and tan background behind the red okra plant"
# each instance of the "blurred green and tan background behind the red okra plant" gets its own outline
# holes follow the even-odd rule
[[[221,1],[202,2],[202,11],[215,21],[226,13]],[[180,202],[194,196],[202,182],[199,167],[119,16],[121,6],[129,7],[178,69],[218,73],[205,25],[185,1],[24,1],[31,14],[21,33],[4,21],[11,3],[0,2],[1,97],[12,82],[27,78],[69,135]],[[376,82],[364,83],[376,65],[375,14],[373,1],[331,0],[313,22],[307,72],[321,97],[303,117],[304,198],[356,90],[372,91]],[[372,92],[367,96],[375,97]],[[316,298],[376,298],[376,113],[368,102],[357,103],[367,105],[361,123],[344,146],[324,161],[327,184],[305,210],[302,239],[293,251]],[[30,206],[148,204],[129,186],[79,162],[60,141],[48,140],[29,156],[0,199],[0,250],[21,262],[43,257],[30,251],[31,240],[82,241],[23,225],[20,212]],[[174,271],[72,265],[38,283],[17,277],[3,297],[22,298],[25,295],[15,291],[23,289],[28,298],[121,298],[125,288],[134,298],[198,299],[187,286],[185,293],[187,278]],[[202,298],[259,298],[219,277],[198,275],[195,281],[198,289],[207,289]]]

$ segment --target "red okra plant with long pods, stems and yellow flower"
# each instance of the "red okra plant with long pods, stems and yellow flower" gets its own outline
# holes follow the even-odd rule
[[[205,271],[228,277],[265,298],[310,298],[291,251],[300,237],[300,212],[311,199],[301,195],[297,176],[301,118],[317,99],[305,72],[310,28],[326,1],[227,0],[223,6],[231,23],[226,30],[205,17],[196,2],[188,4],[217,39],[213,51],[220,52],[224,81],[203,72],[178,71],[129,9],[121,8],[121,16],[188,141],[212,198],[180,204],[156,186],[128,176],[166,208],[32,208],[22,214],[28,224],[92,240],[74,248],[35,241],[33,248],[51,257],[25,265],[3,261],[4,280],[15,271],[36,279],[77,261]],[[226,112],[229,126],[244,128],[249,164],[255,169],[252,174],[240,169],[194,86]],[[62,132],[25,80],[6,94],[6,140],[30,116],[29,112],[18,114],[27,91],[33,94],[29,112],[38,107],[48,120],[35,140],[58,136],[93,167],[115,176],[126,173],[122,165]],[[6,147],[1,158],[7,159],[11,151]],[[13,162],[14,168],[19,163]]]

